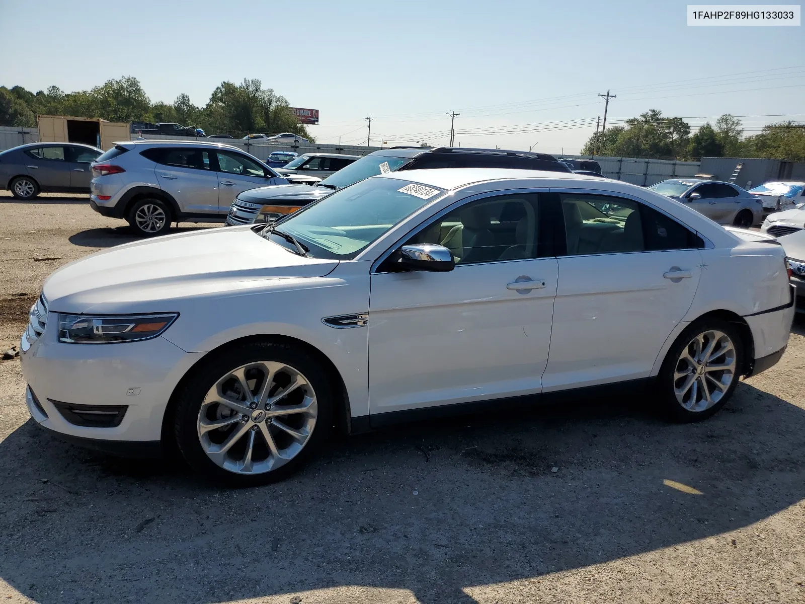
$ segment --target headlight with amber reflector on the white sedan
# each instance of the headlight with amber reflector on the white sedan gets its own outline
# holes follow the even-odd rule
[[[177,316],[178,312],[120,316],[59,313],[59,341],[71,344],[114,344],[148,340],[163,333]]]

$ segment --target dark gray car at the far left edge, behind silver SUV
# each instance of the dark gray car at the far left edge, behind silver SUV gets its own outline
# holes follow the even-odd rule
[[[0,153],[0,188],[17,199],[40,192],[89,193],[89,167],[103,153],[78,143],[30,143]]]

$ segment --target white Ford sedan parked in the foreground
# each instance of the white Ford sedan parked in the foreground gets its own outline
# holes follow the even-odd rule
[[[391,172],[273,225],[70,263],[23,335],[31,416],[201,474],[282,478],[333,429],[650,383],[704,419],[782,356],[782,246],[613,180]],[[757,238],[754,238],[757,239]]]

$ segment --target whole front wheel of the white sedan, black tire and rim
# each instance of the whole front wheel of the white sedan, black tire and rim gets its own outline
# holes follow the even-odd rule
[[[332,428],[332,388],[305,350],[267,341],[221,350],[179,393],[175,438],[196,472],[231,486],[287,478]]]

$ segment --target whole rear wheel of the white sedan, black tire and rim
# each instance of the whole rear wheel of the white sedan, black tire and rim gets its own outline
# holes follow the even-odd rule
[[[729,321],[694,321],[668,350],[657,379],[672,420],[706,420],[724,407],[737,387],[744,362],[741,335]]]

